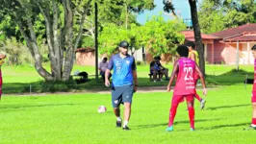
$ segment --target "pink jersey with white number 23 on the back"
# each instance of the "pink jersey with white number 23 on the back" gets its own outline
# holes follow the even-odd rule
[[[174,95],[190,95],[195,93],[195,62],[187,58],[178,60],[179,72],[174,87]]]

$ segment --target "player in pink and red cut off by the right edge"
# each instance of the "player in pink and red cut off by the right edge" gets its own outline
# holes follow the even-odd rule
[[[251,48],[252,56],[254,57],[254,82],[252,88],[252,120],[250,128],[256,130],[256,44]]]

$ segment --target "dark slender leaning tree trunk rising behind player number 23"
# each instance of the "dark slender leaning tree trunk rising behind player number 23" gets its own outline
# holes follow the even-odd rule
[[[197,16],[197,8],[196,8],[196,1],[195,0],[189,0],[190,6],[191,6],[191,12],[192,12],[192,28],[193,28],[193,34],[195,39],[195,45],[196,50],[199,54],[199,66],[200,69],[205,76],[205,61],[204,61],[204,48],[203,48],[203,42],[200,32],[200,25],[198,21]]]

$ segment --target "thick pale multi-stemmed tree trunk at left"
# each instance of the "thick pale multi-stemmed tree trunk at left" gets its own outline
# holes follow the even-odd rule
[[[85,16],[90,10],[91,0],[83,7],[82,22],[79,33],[74,39],[73,36],[73,9],[70,0],[62,1],[35,1],[39,12],[43,15],[46,28],[46,39],[51,61],[51,73],[47,72],[41,61],[41,54],[38,50],[37,36],[33,28],[33,13],[20,3],[21,10],[26,19],[20,17],[23,13],[14,12],[19,30],[24,36],[29,51],[35,60],[35,67],[38,74],[46,81],[67,81],[73,68],[74,53],[80,41]],[[24,3],[27,4],[27,3]],[[64,7],[64,20],[60,19],[60,5]],[[64,23],[62,23],[64,21]],[[65,50],[65,51],[64,51]]]

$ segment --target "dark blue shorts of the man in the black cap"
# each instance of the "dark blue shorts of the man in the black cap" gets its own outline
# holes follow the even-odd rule
[[[118,108],[120,104],[132,103],[134,85],[112,87],[112,106]]]

